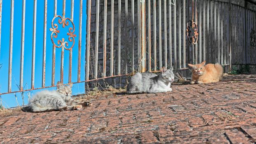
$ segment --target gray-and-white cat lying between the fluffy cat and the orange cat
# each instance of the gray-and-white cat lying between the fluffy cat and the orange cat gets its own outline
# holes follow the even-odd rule
[[[129,81],[127,93],[165,93],[172,91],[170,86],[175,77],[172,70],[173,68],[167,70],[163,67],[159,75],[151,72],[136,73]]]

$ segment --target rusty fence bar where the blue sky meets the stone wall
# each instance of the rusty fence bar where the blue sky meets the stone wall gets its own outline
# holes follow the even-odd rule
[[[91,0],[87,0],[87,1],[88,1],[88,13],[87,13],[87,42],[86,42],[86,80],[89,80],[90,46],[91,46]]]

